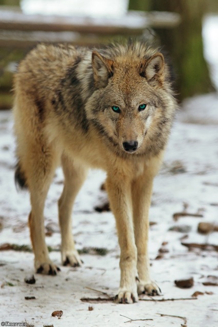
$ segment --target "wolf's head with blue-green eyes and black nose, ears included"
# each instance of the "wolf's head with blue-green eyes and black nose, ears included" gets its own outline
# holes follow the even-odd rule
[[[170,126],[161,134],[176,108],[164,57],[150,49],[137,52],[137,46],[116,51],[111,58],[108,49],[92,53],[95,91],[88,118],[116,152],[143,154],[156,143],[163,148]]]

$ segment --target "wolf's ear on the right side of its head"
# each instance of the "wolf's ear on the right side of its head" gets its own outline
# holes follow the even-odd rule
[[[164,56],[158,52],[142,63],[140,75],[155,86],[164,80],[164,65]]]

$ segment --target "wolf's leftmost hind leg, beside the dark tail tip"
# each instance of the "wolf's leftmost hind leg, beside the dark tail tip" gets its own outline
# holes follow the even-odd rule
[[[32,205],[29,227],[35,254],[35,269],[37,273],[56,275],[60,269],[49,258],[45,241],[43,209],[58,156],[52,146],[43,152],[37,144],[32,144],[27,153],[28,158],[24,160],[25,176]]]

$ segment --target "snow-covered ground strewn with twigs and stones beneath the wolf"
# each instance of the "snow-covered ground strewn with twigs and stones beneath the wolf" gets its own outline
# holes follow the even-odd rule
[[[156,224],[150,227],[149,252],[152,272],[163,296],[154,297],[153,301],[144,295],[134,305],[80,300],[114,296],[120,277],[114,217],[110,212],[97,213],[94,210],[95,206],[106,200],[106,194],[100,191],[105,175],[101,171],[91,171],[76,200],[74,235],[78,249],[105,248],[106,255],[96,254],[95,251],[82,254],[83,267],[61,267],[61,272],[55,277],[35,274],[36,283],[29,285],[24,279],[34,273],[33,253],[12,249],[0,251],[0,320],[26,321],[34,326],[94,327],[124,326],[126,321],[133,319],[136,321],[129,323],[134,326],[168,327],[184,324],[185,318],[178,317],[186,317],[187,326],[216,327],[218,289],[217,286],[205,286],[203,283],[218,283],[217,232],[201,235],[197,228],[200,222],[217,224],[217,108],[216,94],[192,98],[184,103],[184,110],[178,113],[172,129],[163,168],[155,180],[150,221]],[[30,245],[27,224],[29,195],[17,193],[13,183],[14,148],[11,113],[0,112],[0,245]],[[45,225],[47,230],[52,230],[47,244],[57,250],[60,233],[56,200],[61,193],[61,184],[62,174],[58,170],[45,210]],[[184,210],[203,217],[188,215],[173,220],[173,214]],[[211,246],[188,250],[182,242]],[[59,251],[52,251],[51,258],[60,265]],[[192,288],[176,287],[175,279],[190,276],[194,279]],[[191,298],[196,291],[204,295],[198,295],[197,299],[176,300]],[[27,300],[26,296],[34,296],[35,299]],[[160,299],[175,300],[158,301]],[[89,310],[89,306],[93,310]],[[55,310],[63,311],[60,319],[51,316]]]

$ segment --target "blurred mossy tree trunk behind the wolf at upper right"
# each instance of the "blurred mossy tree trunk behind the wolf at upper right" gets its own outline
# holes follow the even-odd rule
[[[172,62],[180,100],[214,90],[203,54],[202,20],[207,5],[208,0],[129,0],[130,10],[169,11],[181,15],[177,27],[155,29]]]

